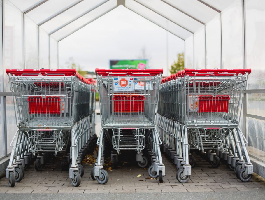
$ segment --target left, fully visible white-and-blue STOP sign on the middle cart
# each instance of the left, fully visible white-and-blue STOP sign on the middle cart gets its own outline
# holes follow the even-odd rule
[[[125,77],[125,78],[113,78],[113,91],[121,92],[121,91],[133,91],[133,78]]]

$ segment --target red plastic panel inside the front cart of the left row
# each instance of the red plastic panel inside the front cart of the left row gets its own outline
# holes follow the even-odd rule
[[[28,97],[29,114],[60,114],[60,97]]]

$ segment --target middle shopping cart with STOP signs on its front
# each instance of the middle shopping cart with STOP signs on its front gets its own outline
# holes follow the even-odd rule
[[[164,181],[161,140],[155,129],[162,73],[162,69],[96,69],[102,126],[97,162],[91,171],[94,180],[101,184],[108,181],[108,173],[103,169],[108,141],[114,168],[118,154],[124,150],[135,150],[138,165],[146,167],[148,159],[143,150],[147,147],[152,159],[149,175]]]

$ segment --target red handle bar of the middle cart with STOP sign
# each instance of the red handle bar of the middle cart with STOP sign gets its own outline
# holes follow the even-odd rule
[[[163,73],[163,69],[99,69],[96,68],[96,74],[102,76],[146,76],[150,74],[151,76],[160,75]]]

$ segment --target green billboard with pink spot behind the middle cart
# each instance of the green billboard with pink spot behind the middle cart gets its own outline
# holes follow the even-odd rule
[[[110,60],[110,69],[147,69],[148,60]]]

